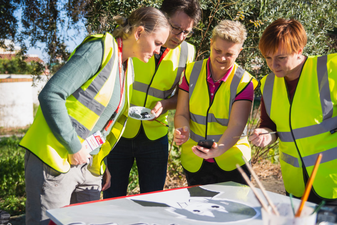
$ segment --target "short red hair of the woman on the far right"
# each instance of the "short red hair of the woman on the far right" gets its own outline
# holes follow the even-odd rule
[[[258,48],[263,56],[275,53],[279,45],[286,54],[293,54],[307,44],[307,34],[300,22],[294,19],[277,19],[263,32]]]

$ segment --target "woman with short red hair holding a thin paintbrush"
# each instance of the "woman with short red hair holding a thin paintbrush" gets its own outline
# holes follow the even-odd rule
[[[272,71],[261,80],[261,124],[249,137],[264,147],[279,137],[287,194],[301,198],[318,154],[322,160],[308,201],[337,203],[337,54],[304,56],[302,24],[278,19],[263,32],[259,49]],[[277,132],[276,134],[264,134]]]

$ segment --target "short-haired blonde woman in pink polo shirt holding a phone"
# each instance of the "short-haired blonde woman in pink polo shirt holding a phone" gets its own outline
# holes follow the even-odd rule
[[[238,21],[223,20],[212,32],[208,59],[186,65],[179,85],[174,141],[182,145],[181,165],[190,185],[225,181],[246,184],[236,164],[250,177],[251,148],[246,124],[257,81],[235,63],[246,39]],[[235,137],[235,138],[234,138]],[[197,145],[214,139],[211,147]]]

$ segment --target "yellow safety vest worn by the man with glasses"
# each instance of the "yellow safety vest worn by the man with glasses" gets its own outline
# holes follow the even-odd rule
[[[156,67],[154,56],[148,63],[133,59],[134,84],[131,106],[142,106],[152,109],[156,103],[168,99],[179,83],[185,64],[194,60],[195,48],[183,42],[175,49],[170,49]],[[167,123],[167,111],[157,120]],[[136,120],[128,118],[123,138],[132,139],[139,133],[143,124],[144,132],[150,140],[157,140],[167,134],[167,127],[154,121]]]

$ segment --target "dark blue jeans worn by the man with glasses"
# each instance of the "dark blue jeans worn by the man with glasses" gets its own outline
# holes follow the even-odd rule
[[[103,198],[125,196],[129,174],[136,160],[141,193],[163,190],[168,159],[167,135],[150,141],[141,128],[134,139],[121,138],[107,157],[111,186]]]

